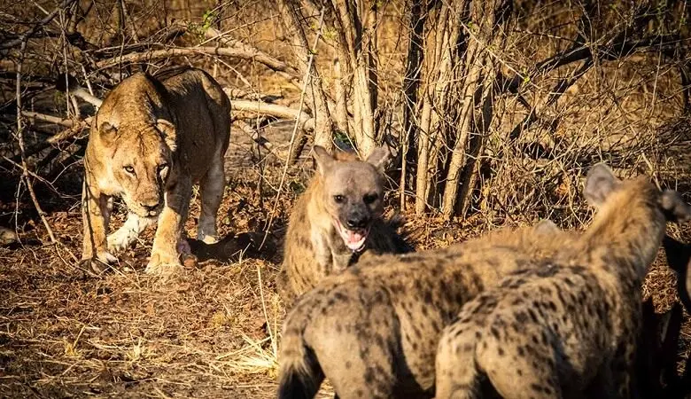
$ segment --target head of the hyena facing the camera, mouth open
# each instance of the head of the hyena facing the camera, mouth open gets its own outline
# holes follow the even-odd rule
[[[313,151],[323,187],[317,195],[322,196],[323,207],[346,246],[361,251],[372,222],[384,210],[383,174],[389,150],[377,147],[365,161],[334,157],[319,145]]]

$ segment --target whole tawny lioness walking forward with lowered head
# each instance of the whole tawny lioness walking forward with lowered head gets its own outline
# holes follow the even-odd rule
[[[91,125],[84,158],[82,261],[100,272],[113,253],[130,245],[158,220],[146,272],[180,265],[178,243],[187,219],[192,183],[201,189],[198,239],[216,240],[216,213],[229,145],[230,101],[218,82],[187,69],[160,82],[134,74],[105,98]],[[128,207],[128,219],[109,235],[113,196]]]

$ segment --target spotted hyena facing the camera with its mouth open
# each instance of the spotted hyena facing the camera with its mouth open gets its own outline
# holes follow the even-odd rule
[[[382,219],[384,164],[378,147],[367,160],[351,152],[331,155],[314,146],[317,173],[292,210],[278,288],[288,308],[322,278],[346,270],[365,251],[408,252],[392,223]]]

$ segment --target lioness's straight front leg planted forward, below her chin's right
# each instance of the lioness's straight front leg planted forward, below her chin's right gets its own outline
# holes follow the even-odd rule
[[[192,183],[189,176],[181,176],[173,190],[166,192],[166,206],[159,216],[159,227],[153,239],[151,259],[146,272],[169,274],[182,268],[178,256],[178,242],[190,207]]]

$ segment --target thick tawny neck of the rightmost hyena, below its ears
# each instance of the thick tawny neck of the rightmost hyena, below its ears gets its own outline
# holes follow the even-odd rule
[[[627,182],[611,194],[584,234],[586,254],[601,256],[603,270],[640,284],[665,232],[659,192],[646,181]],[[595,263],[597,264],[597,262]]]

